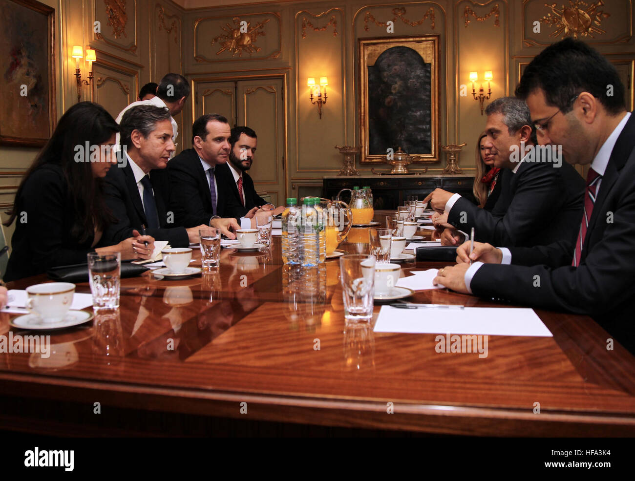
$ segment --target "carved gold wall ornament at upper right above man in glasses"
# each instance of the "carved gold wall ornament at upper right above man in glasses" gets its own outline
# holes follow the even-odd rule
[[[587,9],[582,10],[582,8],[579,8],[581,5],[586,6]],[[569,0],[568,6],[563,5],[558,10],[555,3],[545,3],[545,7],[551,8],[552,13],[547,13],[547,15],[540,18],[540,22],[545,22],[552,27],[558,27],[549,37],[558,37],[562,34],[563,37],[573,36],[575,39],[578,36],[595,38],[592,34],[606,33],[605,30],[598,27],[603,17],[608,18],[611,15],[603,10],[598,10],[603,5],[604,2],[602,0],[591,4],[581,0]],[[598,27],[593,25],[594,23]]]

